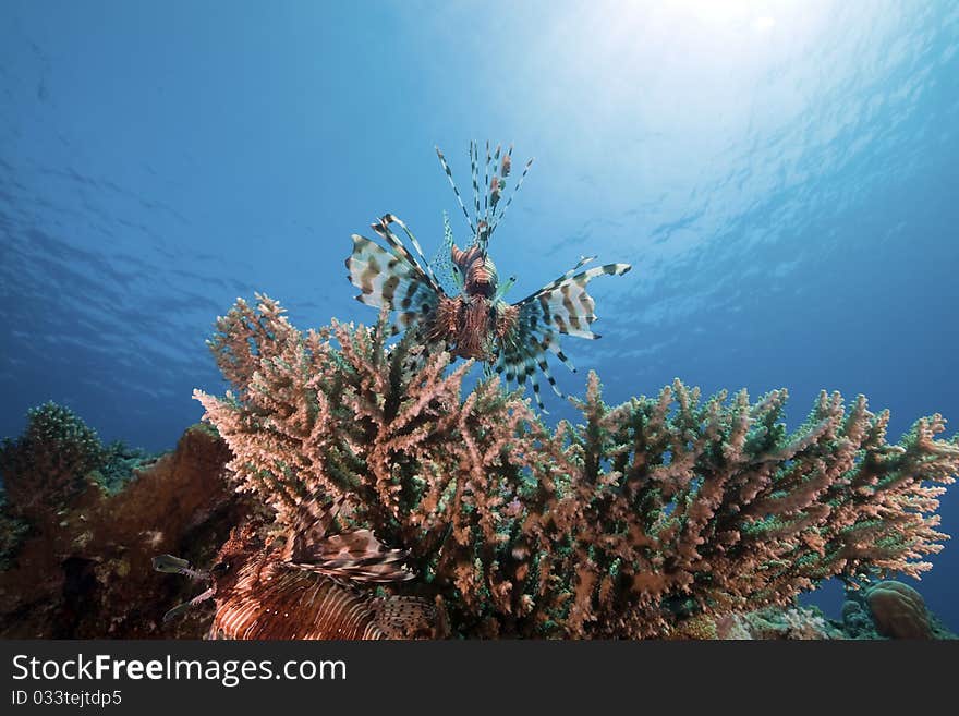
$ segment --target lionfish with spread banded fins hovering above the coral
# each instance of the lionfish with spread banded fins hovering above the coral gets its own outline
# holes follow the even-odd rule
[[[551,351],[570,371],[575,372],[559,344],[559,333],[580,338],[599,338],[590,325],[596,320],[594,301],[586,293],[591,279],[621,276],[630,270],[629,264],[606,264],[580,270],[595,256],[585,256],[570,270],[522,301],[509,304],[506,292],[515,282],[510,278],[500,283],[496,265],[489,257],[489,239],[520,191],[533,160],[530,159],[519,181],[503,199],[507,178],[512,170],[512,146],[490,151],[486,144],[486,162],[481,206],[480,150],[470,143],[470,163],[473,183],[473,214],[466,210],[452,171],[439,147],[439,162],[446,172],[463,210],[473,235],[472,243],[461,250],[457,246],[449,217],[444,214],[444,246],[430,263],[423,255],[420,242],[405,223],[392,214],[384,215],[371,228],[388,244],[379,244],[353,234],[353,253],[347,259],[348,278],[362,292],[361,303],[397,311],[393,333],[414,329],[427,344],[442,345],[445,350],[464,359],[477,359],[486,364],[487,373],[505,374],[506,383],[525,386],[529,378],[539,409],[546,412],[539,397],[536,368],[546,376],[554,392],[562,393],[549,373],[546,351]],[[409,238],[416,257],[403,245],[391,229],[397,224]],[[437,272],[434,271],[434,266]],[[439,275],[446,279],[440,280]]]

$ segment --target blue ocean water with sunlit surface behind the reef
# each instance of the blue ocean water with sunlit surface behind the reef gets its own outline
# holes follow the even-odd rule
[[[372,321],[350,234],[466,235],[468,143],[536,161],[490,250],[520,298],[583,254],[609,402],[869,396],[959,428],[959,7],[909,0],[0,3],[0,435],[66,404],[171,448],[254,291]],[[367,234],[368,231],[365,231]],[[551,397],[554,417],[571,412]],[[959,488],[943,499],[959,533]],[[959,627],[959,545],[919,585]],[[836,616],[838,590],[815,597]]]

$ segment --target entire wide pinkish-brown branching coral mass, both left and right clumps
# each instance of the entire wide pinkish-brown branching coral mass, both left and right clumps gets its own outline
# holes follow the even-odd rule
[[[829,577],[918,577],[942,548],[959,472],[939,415],[898,445],[888,413],[823,392],[794,433],[787,393],[701,399],[679,380],[548,430],[466,362],[335,323],[305,336],[280,305],[238,301],[210,347],[233,391],[196,391],[238,488],[288,529],[304,500],[409,553],[453,634],[663,636],[690,619],[785,606]],[[384,588],[384,587],[380,587]]]

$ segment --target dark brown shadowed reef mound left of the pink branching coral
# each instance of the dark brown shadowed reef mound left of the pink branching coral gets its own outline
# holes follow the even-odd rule
[[[150,557],[169,550],[211,559],[231,526],[256,513],[227,487],[228,459],[207,426],[187,429],[175,451],[138,461],[135,451],[100,446],[69,411],[32,411],[25,435],[0,451],[3,519],[20,525],[19,544],[0,565],[0,636],[205,633],[209,610],[161,626],[183,585],[157,579]]]

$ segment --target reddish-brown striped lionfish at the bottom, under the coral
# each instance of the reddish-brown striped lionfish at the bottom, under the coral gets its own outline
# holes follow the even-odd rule
[[[342,498],[320,509],[304,502],[282,547],[264,547],[256,530],[235,527],[210,570],[172,555],[154,569],[207,582],[209,588],[163,621],[213,599],[211,639],[410,639],[437,634],[433,604],[414,596],[376,597],[361,585],[404,582],[406,553],[385,547],[369,530],[327,534]]]

